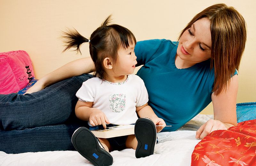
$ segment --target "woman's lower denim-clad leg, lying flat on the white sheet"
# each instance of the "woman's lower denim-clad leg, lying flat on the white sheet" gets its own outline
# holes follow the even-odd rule
[[[0,151],[5,153],[75,150],[71,137],[79,125],[55,125],[0,131]]]

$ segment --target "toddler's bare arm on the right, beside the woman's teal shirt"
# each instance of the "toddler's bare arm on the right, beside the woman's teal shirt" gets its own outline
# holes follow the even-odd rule
[[[153,120],[155,125],[161,125],[156,127],[157,133],[163,130],[164,126],[166,126],[164,119],[158,118],[148,103],[140,107],[136,107],[136,112],[140,118],[146,117]]]

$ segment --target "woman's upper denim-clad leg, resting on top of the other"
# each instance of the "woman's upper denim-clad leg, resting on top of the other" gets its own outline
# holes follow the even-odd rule
[[[86,74],[72,77],[26,95],[0,95],[0,130],[22,130],[74,121],[76,91],[92,77]]]

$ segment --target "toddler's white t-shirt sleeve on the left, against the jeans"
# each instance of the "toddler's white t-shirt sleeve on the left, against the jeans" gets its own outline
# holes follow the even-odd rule
[[[76,92],[76,97],[78,97],[78,100],[83,102],[94,102],[94,89],[94,85],[92,81],[89,79],[83,82],[81,88]]]

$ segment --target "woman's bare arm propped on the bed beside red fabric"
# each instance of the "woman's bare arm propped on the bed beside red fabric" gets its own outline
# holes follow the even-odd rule
[[[208,120],[196,132],[196,138],[203,139],[206,135],[215,130],[227,130],[237,125],[236,119],[236,96],[238,90],[238,76],[230,79],[227,90],[222,91],[218,96],[212,94],[214,120]]]

